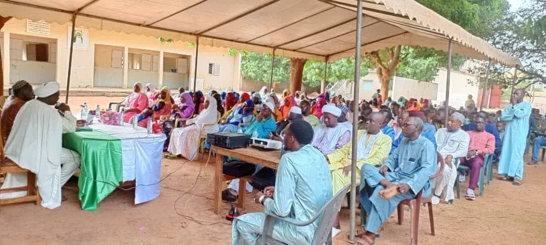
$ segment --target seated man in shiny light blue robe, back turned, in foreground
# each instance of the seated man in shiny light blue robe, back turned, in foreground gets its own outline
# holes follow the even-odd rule
[[[264,205],[264,212],[235,218],[232,244],[257,244],[264,229],[265,213],[307,222],[332,199],[330,169],[323,154],[310,145],[312,138],[313,129],[308,122],[294,120],[288,124],[284,148],[291,152],[281,157],[275,186],[266,187],[264,193],[256,195],[256,203]],[[272,236],[285,244],[310,244],[318,222],[320,219],[298,227],[277,221]]]

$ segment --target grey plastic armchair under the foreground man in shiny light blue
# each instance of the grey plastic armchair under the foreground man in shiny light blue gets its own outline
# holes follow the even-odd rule
[[[262,236],[258,241],[259,245],[276,245],[284,244],[273,238],[273,227],[275,226],[275,220],[280,220],[288,224],[296,226],[307,226],[312,224],[314,221],[319,219],[317,230],[314,231],[313,241],[311,245],[322,245],[326,243],[327,245],[332,244],[332,225],[334,224],[334,218],[337,215],[337,211],[341,209],[341,202],[345,195],[351,188],[351,185],[344,187],[339,193],[337,193],[332,200],[330,200],[326,205],[324,205],[321,211],[318,211],[317,215],[314,216],[307,222],[296,221],[293,218],[284,218],[276,216],[272,213],[266,213],[264,230]]]

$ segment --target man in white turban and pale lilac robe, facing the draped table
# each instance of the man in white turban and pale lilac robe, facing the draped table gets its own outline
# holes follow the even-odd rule
[[[314,128],[313,142],[311,145],[322,152],[324,156],[343,147],[351,140],[351,132],[337,123],[341,115],[341,109],[334,105],[322,107],[323,123]]]

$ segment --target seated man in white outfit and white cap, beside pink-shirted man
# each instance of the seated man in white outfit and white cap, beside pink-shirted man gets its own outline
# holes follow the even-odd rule
[[[432,195],[432,204],[440,203],[440,196],[445,192],[447,203],[453,202],[453,186],[457,177],[457,166],[455,160],[459,157],[465,157],[470,143],[470,136],[461,129],[465,116],[461,113],[453,113],[447,122],[447,127],[436,131],[437,151],[446,161],[446,168],[443,173],[434,180],[434,195]]]

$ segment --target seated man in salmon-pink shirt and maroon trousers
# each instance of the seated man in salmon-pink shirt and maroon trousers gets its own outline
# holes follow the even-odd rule
[[[470,168],[470,182],[466,191],[467,200],[475,200],[474,189],[478,187],[479,173],[483,166],[485,154],[491,154],[495,151],[495,136],[485,132],[487,118],[478,115],[474,121],[476,131],[467,131],[470,136],[470,144],[466,157],[461,157],[461,165]],[[453,188],[452,188],[453,189]]]

